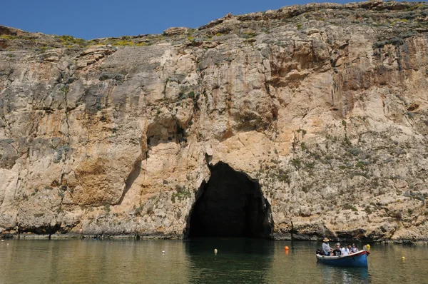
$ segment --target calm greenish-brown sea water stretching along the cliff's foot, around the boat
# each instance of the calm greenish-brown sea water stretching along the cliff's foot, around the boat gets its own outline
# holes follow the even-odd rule
[[[5,240],[0,283],[428,283],[428,245],[374,244],[364,269],[318,264],[319,245],[239,238]]]

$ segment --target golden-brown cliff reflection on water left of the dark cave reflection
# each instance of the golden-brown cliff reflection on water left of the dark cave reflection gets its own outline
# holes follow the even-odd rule
[[[0,283],[185,283],[188,278],[180,240],[9,243],[0,246]]]

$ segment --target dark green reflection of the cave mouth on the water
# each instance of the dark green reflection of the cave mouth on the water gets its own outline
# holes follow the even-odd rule
[[[249,238],[185,241],[190,283],[270,283],[266,276],[272,266],[273,243]]]

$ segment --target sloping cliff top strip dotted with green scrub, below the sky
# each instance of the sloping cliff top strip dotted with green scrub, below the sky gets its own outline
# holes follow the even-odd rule
[[[36,49],[45,51],[66,47],[83,49],[88,46],[148,46],[168,43],[172,45],[200,46],[204,42],[224,41],[233,37],[250,40],[258,34],[270,34],[280,26],[305,30],[324,25],[360,25],[377,28],[379,44],[393,37],[406,38],[412,33],[428,31],[427,2],[364,1],[350,4],[312,3],[284,6],[243,15],[227,14],[197,29],[173,27],[163,34],[77,39],[73,36],[56,36],[29,33],[20,29],[0,26],[0,50]]]

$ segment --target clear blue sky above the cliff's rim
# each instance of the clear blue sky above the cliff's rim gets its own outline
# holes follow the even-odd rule
[[[170,26],[196,28],[229,12],[245,14],[292,4],[290,0],[19,0],[1,4],[0,25],[83,39],[160,34]],[[348,3],[351,1],[334,1]]]

